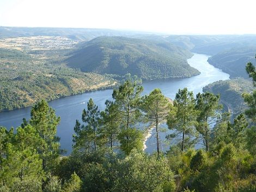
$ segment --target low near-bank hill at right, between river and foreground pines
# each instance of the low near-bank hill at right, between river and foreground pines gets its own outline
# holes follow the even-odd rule
[[[225,81],[216,81],[205,86],[203,91],[220,94],[221,103],[225,110],[231,111],[232,117],[234,118],[247,107],[243,101],[242,93],[251,93],[253,91],[253,84],[252,80],[237,78]]]

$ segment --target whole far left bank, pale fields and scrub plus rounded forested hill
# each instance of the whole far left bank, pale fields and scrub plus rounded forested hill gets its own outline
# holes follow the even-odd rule
[[[125,37],[0,39],[0,111],[112,88],[126,73],[146,80],[188,78],[199,74],[187,64],[192,55],[170,43]]]

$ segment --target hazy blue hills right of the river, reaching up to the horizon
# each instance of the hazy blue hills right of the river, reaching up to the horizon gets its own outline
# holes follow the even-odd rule
[[[191,52],[211,55],[209,63],[222,69],[230,78],[248,78],[247,62],[255,63],[256,35],[171,35],[164,40],[189,49]]]

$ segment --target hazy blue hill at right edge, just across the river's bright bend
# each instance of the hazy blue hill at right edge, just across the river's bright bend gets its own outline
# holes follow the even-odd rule
[[[236,47],[209,57],[208,62],[230,74],[230,78],[247,79],[245,71],[247,62],[255,63],[256,47]]]

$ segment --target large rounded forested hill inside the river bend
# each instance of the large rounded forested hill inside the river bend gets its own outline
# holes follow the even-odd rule
[[[101,36],[80,43],[66,62],[84,72],[130,73],[150,80],[188,78],[199,74],[187,63],[191,56],[188,50],[166,42]]]

